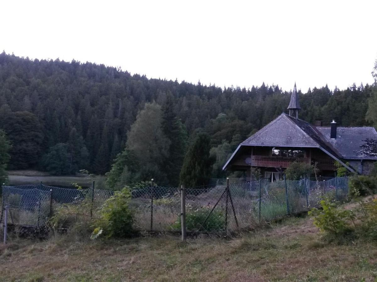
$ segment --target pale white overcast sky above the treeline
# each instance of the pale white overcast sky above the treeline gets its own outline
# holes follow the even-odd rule
[[[375,0],[3,0],[0,11],[6,53],[221,87],[344,89],[371,83],[377,58]]]

